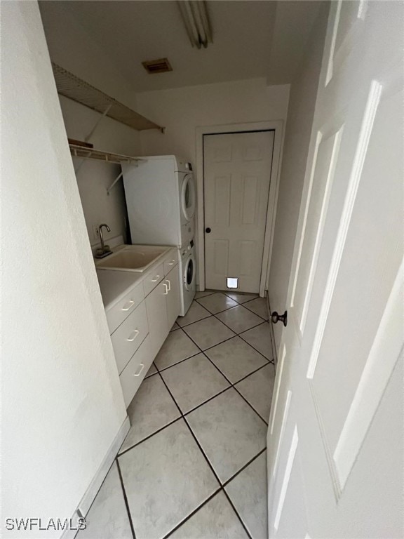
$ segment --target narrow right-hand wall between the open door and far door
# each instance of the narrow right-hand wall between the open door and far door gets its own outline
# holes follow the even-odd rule
[[[309,152],[327,16],[328,3],[324,3],[311,34],[302,70],[290,88],[268,281],[271,310],[280,313],[285,310],[288,295],[290,267]],[[273,327],[278,350],[283,326],[278,323]]]

